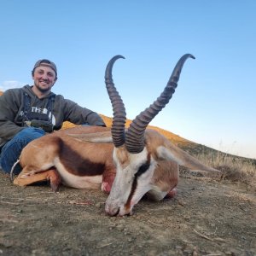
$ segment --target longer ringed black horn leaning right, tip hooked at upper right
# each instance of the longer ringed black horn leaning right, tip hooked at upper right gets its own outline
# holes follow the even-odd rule
[[[183,68],[183,64],[189,57],[195,59],[193,55],[183,55],[179,61],[177,61],[177,64],[173,69],[172,76],[160,97],[158,97],[152,105],[137,115],[137,117],[132,121],[125,136],[126,148],[130,153],[137,154],[143,151],[145,129],[151,120],[166,107],[166,104],[172,98],[172,94],[175,92],[177,87],[177,81]]]

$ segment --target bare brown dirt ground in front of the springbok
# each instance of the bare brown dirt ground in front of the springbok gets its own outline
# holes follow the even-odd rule
[[[0,171],[0,255],[256,255],[255,191],[182,175],[177,196],[108,217],[106,194],[16,187]]]

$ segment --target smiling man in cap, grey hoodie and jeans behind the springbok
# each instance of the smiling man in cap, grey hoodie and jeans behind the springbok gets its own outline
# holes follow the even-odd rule
[[[106,126],[97,113],[51,92],[57,80],[54,62],[37,61],[32,79],[32,86],[6,90],[0,96],[0,167],[4,172],[11,171],[27,143],[61,129],[64,121]]]

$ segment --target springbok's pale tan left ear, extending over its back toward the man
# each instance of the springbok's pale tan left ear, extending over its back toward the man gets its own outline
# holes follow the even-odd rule
[[[80,142],[113,143],[113,139],[109,131],[102,131],[102,132],[95,132],[95,133],[80,133],[80,134],[68,133],[67,136],[74,137]]]

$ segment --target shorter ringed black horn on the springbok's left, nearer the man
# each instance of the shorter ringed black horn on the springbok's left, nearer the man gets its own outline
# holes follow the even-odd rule
[[[108,90],[108,96],[113,108],[113,125],[111,128],[113,144],[115,147],[120,147],[125,144],[125,105],[116,90],[112,79],[113,63],[119,58],[125,59],[122,55],[115,55],[108,61],[108,66],[105,71],[105,84]]]

